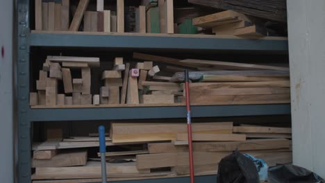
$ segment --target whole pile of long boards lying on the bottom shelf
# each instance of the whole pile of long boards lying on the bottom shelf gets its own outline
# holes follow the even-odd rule
[[[291,128],[233,126],[232,122],[192,125],[196,175],[215,175],[219,161],[236,148],[264,159],[268,166],[292,162]],[[109,180],[188,176],[186,123],[113,122],[109,134],[106,137]],[[99,179],[99,153],[88,155],[87,160],[87,149],[98,150],[98,146],[98,137],[48,138],[34,144],[34,182]]]

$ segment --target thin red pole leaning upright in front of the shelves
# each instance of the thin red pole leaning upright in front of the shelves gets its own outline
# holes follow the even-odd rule
[[[188,111],[188,154],[190,159],[190,180],[194,183],[194,164],[193,164],[193,150],[192,150],[192,122],[191,122],[191,108],[190,108],[190,89],[189,89],[188,70],[185,70],[185,97],[186,110]]]

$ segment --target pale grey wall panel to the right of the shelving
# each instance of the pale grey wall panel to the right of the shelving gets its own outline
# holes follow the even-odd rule
[[[325,1],[287,2],[293,161],[325,177]]]

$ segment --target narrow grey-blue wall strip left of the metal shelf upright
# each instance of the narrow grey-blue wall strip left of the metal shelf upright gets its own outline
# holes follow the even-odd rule
[[[12,15],[13,1],[0,1],[0,182],[13,180]],[[1,46],[4,55],[1,55]]]

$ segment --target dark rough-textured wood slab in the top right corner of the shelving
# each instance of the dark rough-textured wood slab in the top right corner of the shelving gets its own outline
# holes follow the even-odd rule
[[[287,21],[285,1],[235,1],[235,0],[189,0],[199,6],[216,8],[217,10],[235,10],[254,17],[262,19],[271,19],[274,21]]]

